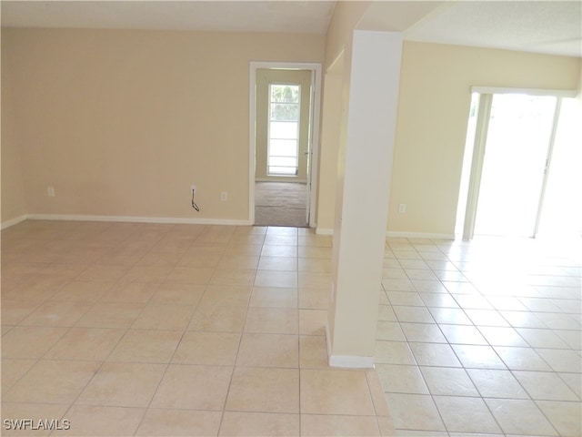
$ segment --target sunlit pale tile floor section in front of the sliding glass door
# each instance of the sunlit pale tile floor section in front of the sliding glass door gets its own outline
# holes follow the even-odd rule
[[[582,435],[581,255],[386,239],[376,370],[396,435]]]

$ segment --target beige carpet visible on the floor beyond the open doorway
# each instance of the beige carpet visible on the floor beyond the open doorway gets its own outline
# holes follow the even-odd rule
[[[306,184],[256,182],[255,224],[305,228]]]

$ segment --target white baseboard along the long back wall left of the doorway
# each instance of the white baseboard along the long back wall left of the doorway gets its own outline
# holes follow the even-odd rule
[[[247,220],[236,219],[187,219],[177,217],[137,217],[137,216],[90,216],[76,214],[28,214],[31,220],[70,220],[70,221],[113,221],[130,223],[167,223],[185,225],[227,225],[250,226]]]

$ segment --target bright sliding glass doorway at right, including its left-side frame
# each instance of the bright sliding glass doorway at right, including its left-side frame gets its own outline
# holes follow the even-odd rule
[[[548,200],[561,100],[510,92],[473,95],[457,213],[463,239],[536,237]]]

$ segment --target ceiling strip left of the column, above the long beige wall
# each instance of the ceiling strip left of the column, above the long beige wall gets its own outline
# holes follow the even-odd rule
[[[335,1],[4,1],[2,25],[325,34]]]

